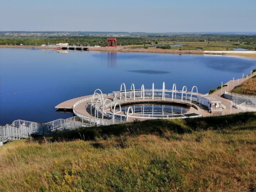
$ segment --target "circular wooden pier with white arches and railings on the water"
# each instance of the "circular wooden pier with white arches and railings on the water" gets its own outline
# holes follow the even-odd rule
[[[121,84],[120,91],[103,94],[96,89],[93,95],[74,98],[60,103],[55,108],[70,109],[78,116],[85,118],[97,125],[118,124],[133,121],[145,121],[156,118],[196,118],[202,117],[204,110],[198,107],[197,87],[193,86],[191,91],[183,86],[182,90],[176,90],[176,84],[172,89],[155,89],[154,83],[151,89],[135,89],[132,84],[126,89]]]

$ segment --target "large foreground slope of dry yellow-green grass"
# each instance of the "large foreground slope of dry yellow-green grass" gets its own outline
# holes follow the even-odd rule
[[[256,113],[83,128],[0,148],[0,191],[256,190]]]

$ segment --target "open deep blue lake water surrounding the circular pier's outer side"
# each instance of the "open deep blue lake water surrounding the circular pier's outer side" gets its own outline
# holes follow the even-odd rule
[[[166,89],[196,85],[206,93],[254,68],[256,60],[240,57],[0,48],[0,125],[71,117],[54,107],[97,88],[120,90],[122,82],[127,89],[132,83],[151,88],[152,82],[157,89],[163,81]]]

